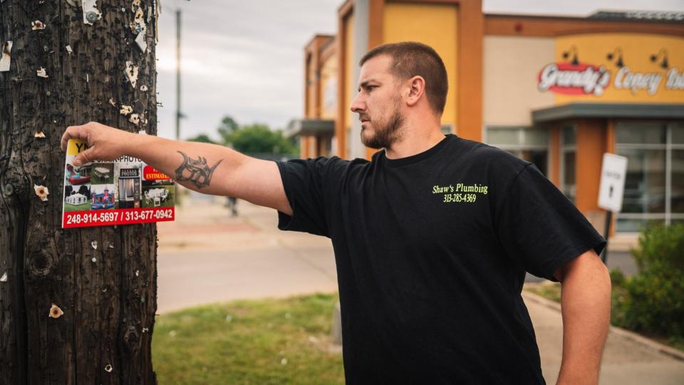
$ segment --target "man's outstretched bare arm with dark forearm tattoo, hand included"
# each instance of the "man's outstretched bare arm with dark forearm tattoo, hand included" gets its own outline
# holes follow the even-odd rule
[[[274,162],[221,145],[138,135],[93,122],[68,127],[62,136],[62,150],[71,138],[85,140],[89,147],[76,157],[76,165],[128,155],[200,193],[239,197],[292,215]]]

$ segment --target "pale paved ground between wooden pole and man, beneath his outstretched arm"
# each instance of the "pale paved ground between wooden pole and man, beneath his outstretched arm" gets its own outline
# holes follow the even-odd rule
[[[231,299],[336,292],[330,240],[277,229],[274,210],[206,197],[160,222],[157,312]]]

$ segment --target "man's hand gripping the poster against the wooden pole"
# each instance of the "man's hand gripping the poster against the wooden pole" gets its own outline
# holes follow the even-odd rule
[[[131,133],[100,123],[71,125],[62,135],[61,148],[66,151],[69,139],[85,140],[88,150],[76,155],[73,165],[82,165],[93,160],[115,160],[125,153],[125,144],[130,145]]]

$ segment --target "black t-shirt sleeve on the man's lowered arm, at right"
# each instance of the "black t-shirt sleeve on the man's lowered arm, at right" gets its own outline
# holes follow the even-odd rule
[[[514,178],[496,223],[504,250],[527,272],[556,281],[554,273],[606,241],[575,205],[532,164]]]

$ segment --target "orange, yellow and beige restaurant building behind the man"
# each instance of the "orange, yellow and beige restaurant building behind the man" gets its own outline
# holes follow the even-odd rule
[[[529,160],[601,227],[603,153],[628,158],[616,231],[684,222],[684,14],[483,14],[480,0],[348,0],[305,48],[301,157],[370,158],[349,106],[358,61],[421,41],[449,76],[442,130]]]

